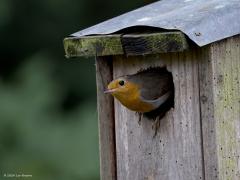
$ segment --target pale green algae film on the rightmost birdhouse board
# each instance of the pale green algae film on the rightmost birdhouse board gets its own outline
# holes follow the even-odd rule
[[[225,52],[225,50],[224,50]],[[222,53],[223,54],[223,53]],[[226,57],[225,57],[226,56]],[[216,77],[215,87],[215,118],[217,128],[217,145],[219,172],[222,179],[235,179],[238,169],[238,148],[236,126],[239,124],[238,114],[238,84],[234,82],[234,75],[239,72],[233,69],[234,61],[231,56],[222,55],[217,57],[215,64]]]

